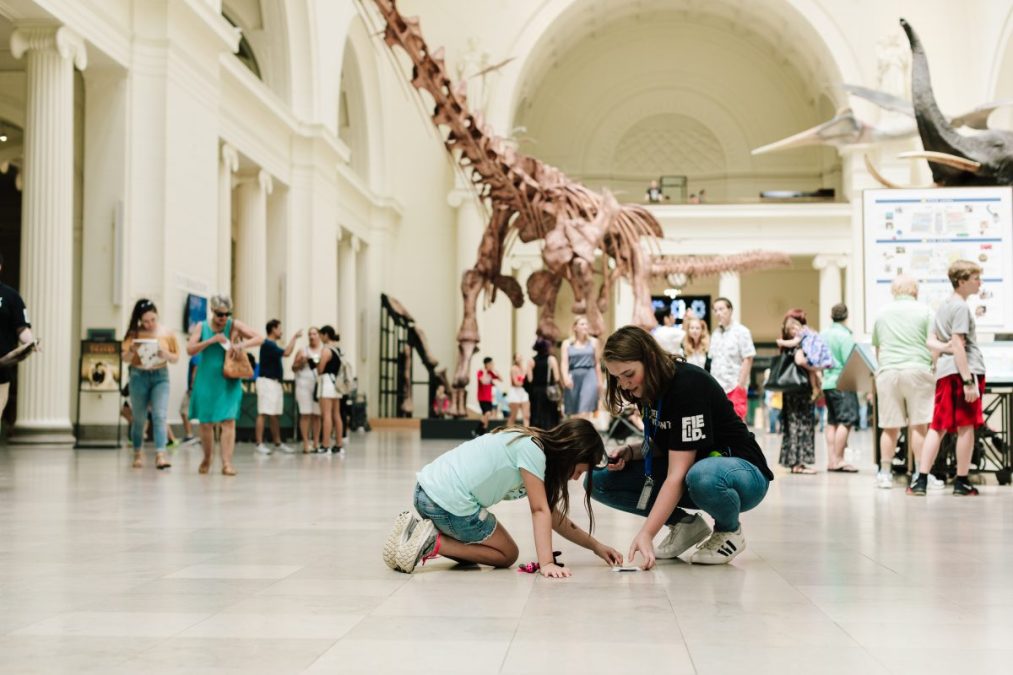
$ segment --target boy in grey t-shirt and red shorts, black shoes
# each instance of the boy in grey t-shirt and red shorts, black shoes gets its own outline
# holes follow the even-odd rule
[[[935,338],[946,351],[936,363],[936,400],[932,424],[925,436],[918,478],[908,488],[909,495],[924,496],[929,471],[936,461],[939,442],[947,434],[956,434],[956,480],[953,494],[978,495],[967,479],[970,454],[975,448],[975,429],[981,427],[982,394],[985,391],[985,360],[978,347],[975,315],[967,298],[982,288],[982,268],[969,260],[957,260],[947,272],[953,295],[936,310]],[[930,338],[929,347],[933,347]],[[938,345],[936,345],[938,347]]]

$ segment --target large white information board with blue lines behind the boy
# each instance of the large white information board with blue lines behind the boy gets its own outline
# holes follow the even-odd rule
[[[982,290],[967,302],[978,332],[1013,330],[1013,189],[866,190],[863,194],[865,330],[890,302],[898,275],[918,280],[935,310],[952,293],[958,259],[982,267]]]

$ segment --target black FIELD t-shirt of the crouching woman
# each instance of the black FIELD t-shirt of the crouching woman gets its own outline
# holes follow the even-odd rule
[[[657,404],[646,410],[648,429],[655,428]],[[735,415],[721,385],[702,368],[678,362],[676,375],[661,398],[654,447],[660,451],[695,450],[696,461],[710,456],[741,457],[767,477],[774,474],[753,433]]]

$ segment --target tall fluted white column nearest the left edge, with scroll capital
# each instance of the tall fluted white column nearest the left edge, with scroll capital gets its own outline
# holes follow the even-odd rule
[[[71,445],[74,325],[74,67],[84,43],[60,26],[21,26],[10,38],[25,57],[24,190],[21,197],[21,295],[43,352],[21,371],[17,443]]]

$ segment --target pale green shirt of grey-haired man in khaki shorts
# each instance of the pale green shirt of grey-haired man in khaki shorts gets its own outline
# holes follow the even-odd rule
[[[932,355],[925,345],[931,325],[931,309],[910,295],[894,296],[872,326],[872,346],[879,349],[879,371],[932,370]]]

